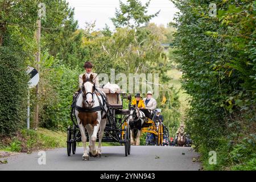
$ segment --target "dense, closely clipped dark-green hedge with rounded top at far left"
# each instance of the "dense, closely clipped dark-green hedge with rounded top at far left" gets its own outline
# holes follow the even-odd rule
[[[0,135],[13,134],[26,121],[28,77],[20,55],[14,48],[0,47]]]

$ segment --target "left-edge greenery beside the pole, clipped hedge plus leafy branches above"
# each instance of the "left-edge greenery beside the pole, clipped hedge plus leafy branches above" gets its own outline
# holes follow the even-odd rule
[[[0,1],[0,136],[26,123],[26,62],[33,57],[35,28],[24,24],[36,20],[34,5],[31,0]]]

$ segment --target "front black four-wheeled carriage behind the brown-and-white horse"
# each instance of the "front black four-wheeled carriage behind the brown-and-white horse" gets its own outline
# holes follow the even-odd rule
[[[130,94],[121,93],[121,90],[117,90],[115,93],[111,93],[109,89],[99,89],[106,94],[107,106],[109,112],[107,114],[107,122],[104,130],[104,137],[102,142],[118,142],[125,146],[125,156],[130,155],[130,127],[127,125],[127,118],[130,114]],[[129,109],[123,109],[123,100],[129,100]],[[72,107],[71,120],[73,126],[68,126],[67,129],[67,153],[68,156],[76,154],[77,142],[81,142],[81,133],[79,126],[77,125],[75,108]],[[89,135],[86,132],[87,141],[89,141]],[[97,140],[98,142],[98,134]]]

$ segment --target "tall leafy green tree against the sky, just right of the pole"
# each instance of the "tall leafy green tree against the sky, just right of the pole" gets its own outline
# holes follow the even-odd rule
[[[84,59],[81,48],[82,33],[77,32],[78,22],[74,9],[66,1],[43,1],[46,4],[46,19],[42,21],[42,49],[63,60],[71,67]]]

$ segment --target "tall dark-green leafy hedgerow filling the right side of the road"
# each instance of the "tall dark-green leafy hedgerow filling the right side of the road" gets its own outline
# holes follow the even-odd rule
[[[180,10],[176,55],[192,97],[187,129],[196,148],[205,161],[217,151],[209,169],[255,159],[255,1],[215,1],[216,17],[208,14],[212,1],[172,2]]]

